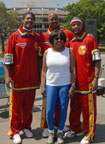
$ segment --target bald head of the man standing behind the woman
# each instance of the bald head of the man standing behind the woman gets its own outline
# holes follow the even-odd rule
[[[56,13],[50,13],[48,16],[48,23],[52,30],[58,29],[59,22]]]

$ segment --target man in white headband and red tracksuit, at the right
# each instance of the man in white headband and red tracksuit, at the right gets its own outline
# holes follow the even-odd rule
[[[70,41],[77,65],[75,95],[71,99],[70,131],[66,137],[82,134],[80,115],[83,115],[84,137],[80,144],[90,144],[96,129],[96,89],[101,65],[100,52],[94,37],[83,30],[83,22],[75,17],[70,22],[75,37]]]

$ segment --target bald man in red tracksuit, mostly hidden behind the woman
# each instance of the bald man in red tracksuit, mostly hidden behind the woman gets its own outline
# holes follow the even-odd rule
[[[49,23],[48,31],[41,34],[41,42],[42,42],[41,47],[42,47],[43,51],[52,47],[52,44],[50,44],[50,42],[49,42],[49,35],[52,33],[52,31],[56,30],[56,29],[61,29],[61,27],[59,26],[58,15],[54,12],[51,12],[48,15],[48,23]],[[74,34],[70,30],[67,30],[67,29],[63,29],[63,31],[66,35],[65,46],[69,47],[69,41],[74,37]],[[44,129],[42,135],[43,135],[43,137],[47,137],[48,129],[47,129],[46,112],[45,112],[45,100],[46,99],[43,98],[43,100],[44,101],[43,101],[41,127],[46,128],[46,129]],[[58,127],[58,123],[59,123],[59,104],[57,104],[56,112],[55,112],[55,126]],[[66,128],[65,129],[65,131],[66,131],[67,127],[65,127],[65,128]]]

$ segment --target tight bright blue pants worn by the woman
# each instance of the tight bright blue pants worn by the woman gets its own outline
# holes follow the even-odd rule
[[[54,113],[56,109],[56,103],[59,100],[59,130],[63,130],[66,117],[67,117],[67,107],[68,107],[68,91],[70,89],[69,85],[64,86],[48,86],[46,85],[46,120],[49,130],[54,130]]]

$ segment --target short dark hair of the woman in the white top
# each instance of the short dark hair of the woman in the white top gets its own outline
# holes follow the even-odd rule
[[[64,43],[66,42],[66,35],[65,35],[65,33],[64,33],[62,30],[57,29],[57,30],[54,30],[54,31],[50,34],[50,36],[49,36],[49,42],[50,42],[51,44],[54,43],[54,38],[57,37],[58,34],[60,34],[60,37],[62,37],[62,39],[64,40]]]

